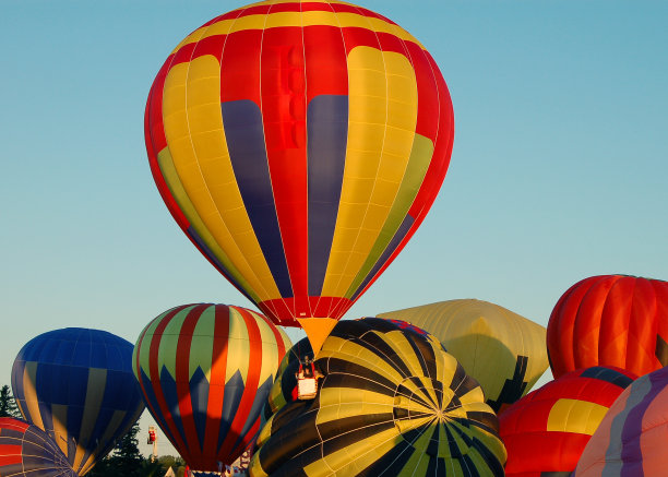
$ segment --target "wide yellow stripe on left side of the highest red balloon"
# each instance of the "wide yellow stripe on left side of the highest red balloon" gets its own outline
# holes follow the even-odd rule
[[[198,73],[205,76],[205,82],[190,80],[191,77],[196,79]],[[258,254],[253,252],[258,246],[252,241],[236,241],[234,236],[230,236],[228,228],[234,227],[232,231],[238,235],[239,228],[243,231],[249,227],[248,218],[243,218],[246,214],[240,207],[238,192],[235,191],[234,175],[227,172],[231,171],[231,168],[227,159],[229,153],[220,120],[220,92],[217,80],[219,74],[218,62],[208,56],[175,65],[169,70],[164,90],[164,118],[169,152],[175,159],[176,177],[168,183],[176,186],[171,191],[177,195],[179,203],[191,204],[183,210],[186,215],[207,247],[229,266],[228,272],[242,286],[263,293],[262,282],[260,284],[257,282],[243,283],[243,281],[254,278],[252,270],[263,271],[262,263],[254,264]],[[212,77],[216,79],[214,83],[210,81]],[[214,121],[213,123],[218,124],[217,128],[214,128],[213,133],[207,127],[205,132],[189,135],[191,130],[201,131],[201,123],[207,118],[208,122]],[[200,124],[199,129],[196,129],[198,124]],[[220,132],[215,135],[215,130]],[[212,134],[214,141],[212,141]],[[198,154],[202,154],[202,158]],[[218,176],[218,171],[223,171],[223,175]],[[231,178],[232,183],[211,178],[207,183],[206,177],[210,176],[205,175],[210,172],[213,177]],[[236,205],[237,202],[239,205]],[[222,211],[217,210],[217,203],[231,207],[231,212],[226,212],[222,216]],[[224,207],[222,208],[225,211]],[[241,252],[238,251],[240,246],[243,247]],[[223,249],[228,251],[229,259]],[[253,264],[251,267],[247,260]]]

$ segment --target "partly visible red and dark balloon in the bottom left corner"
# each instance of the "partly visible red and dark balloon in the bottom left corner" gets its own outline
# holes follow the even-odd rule
[[[0,476],[76,477],[76,473],[45,431],[19,419],[0,417]]]

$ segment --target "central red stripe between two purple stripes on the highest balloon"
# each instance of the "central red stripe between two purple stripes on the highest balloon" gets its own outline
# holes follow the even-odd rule
[[[289,13],[299,22],[300,13]],[[301,28],[273,28],[265,17],[260,103],[271,187],[293,296],[307,295],[308,203],[306,72]],[[297,298],[299,299],[299,298]],[[308,303],[307,303],[308,305]],[[302,308],[302,307],[299,307]]]

